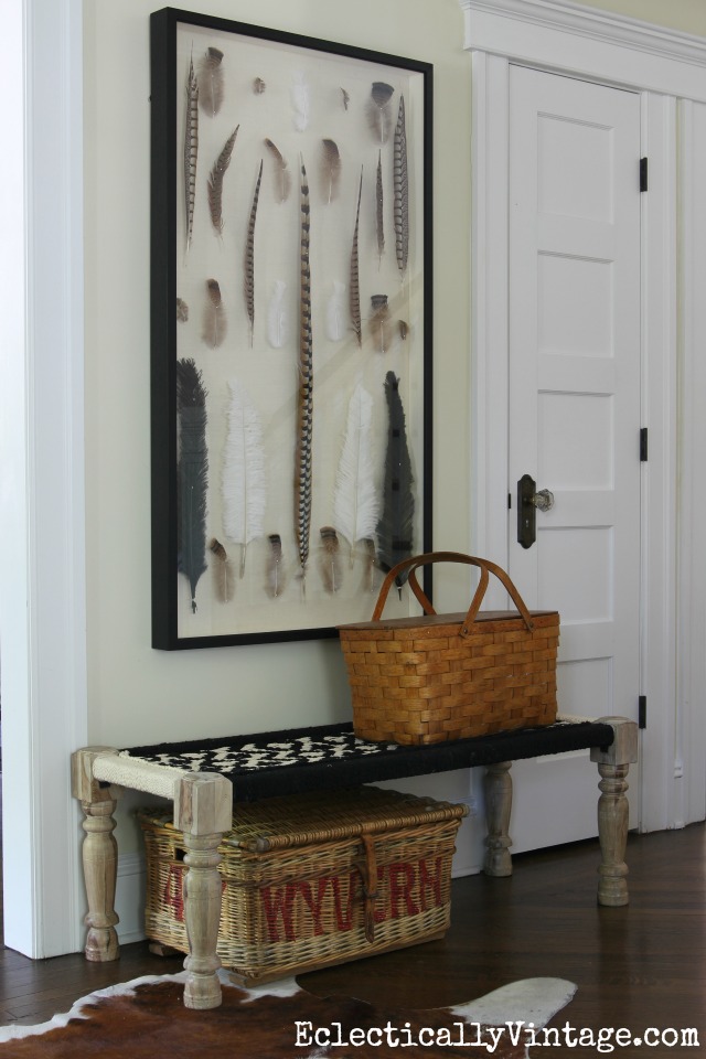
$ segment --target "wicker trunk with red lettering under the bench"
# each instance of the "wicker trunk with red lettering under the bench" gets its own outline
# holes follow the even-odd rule
[[[371,787],[238,806],[220,847],[223,965],[247,985],[441,938],[466,813]],[[138,816],[147,937],[188,952],[182,833],[170,810]]]

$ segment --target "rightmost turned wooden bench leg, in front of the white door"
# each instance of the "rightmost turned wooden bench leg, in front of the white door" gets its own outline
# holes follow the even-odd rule
[[[591,761],[598,764],[601,777],[598,784],[601,792],[598,799],[601,849],[598,903],[616,908],[629,901],[625,846],[630,806],[625,798],[625,777],[630,764],[638,760],[638,726],[623,717],[601,717],[600,723],[610,725],[616,738],[605,750],[600,747],[591,749]]]

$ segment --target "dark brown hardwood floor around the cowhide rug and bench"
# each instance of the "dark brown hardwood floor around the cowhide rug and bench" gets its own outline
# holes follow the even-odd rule
[[[510,879],[453,884],[452,926],[442,941],[301,975],[317,994],[344,993],[413,1007],[461,1003],[517,978],[569,978],[578,992],[560,1016],[578,1028],[634,1034],[694,1027],[706,1049],[706,827],[631,835],[631,903],[596,905],[597,842],[515,858]],[[0,951],[0,1023],[38,1023],[96,988],[181,969],[181,958],[126,945],[111,964],[79,953],[31,961]],[[618,1049],[618,1052],[623,1049]],[[660,1056],[702,1055],[666,1046]],[[533,1056],[558,1057],[556,1047]],[[574,1049],[566,1055],[593,1055]],[[629,1048],[627,1053],[635,1055]],[[638,1052],[639,1053],[639,1052]]]

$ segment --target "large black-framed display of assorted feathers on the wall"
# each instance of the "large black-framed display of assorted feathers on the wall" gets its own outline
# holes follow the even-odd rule
[[[151,77],[152,643],[333,637],[431,549],[432,69],[165,8]]]

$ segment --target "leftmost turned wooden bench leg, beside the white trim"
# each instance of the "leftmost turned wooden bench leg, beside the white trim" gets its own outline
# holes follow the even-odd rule
[[[118,871],[118,845],[113,834],[113,813],[120,794],[119,787],[101,787],[93,778],[93,761],[107,747],[88,747],[72,756],[72,792],[81,801],[85,814],[86,836],[83,844],[84,879],[88,913],[85,922],[86,959],[95,963],[118,960],[120,946],[115,926],[115,885]]]

